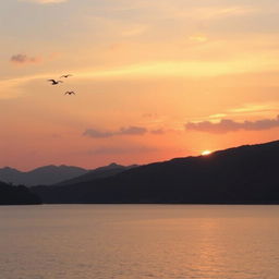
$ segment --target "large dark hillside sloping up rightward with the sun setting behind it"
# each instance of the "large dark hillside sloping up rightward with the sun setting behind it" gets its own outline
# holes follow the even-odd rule
[[[279,204],[279,141],[177,158],[105,179],[38,186],[44,203]]]

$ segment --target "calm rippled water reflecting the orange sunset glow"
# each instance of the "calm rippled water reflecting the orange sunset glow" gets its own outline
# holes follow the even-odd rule
[[[278,279],[279,206],[0,207],[1,279]]]

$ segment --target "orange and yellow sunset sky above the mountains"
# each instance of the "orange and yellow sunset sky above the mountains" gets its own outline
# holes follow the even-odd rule
[[[0,167],[278,140],[278,0],[0,0]]]

